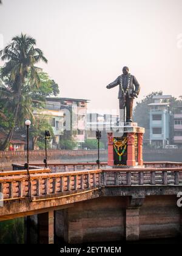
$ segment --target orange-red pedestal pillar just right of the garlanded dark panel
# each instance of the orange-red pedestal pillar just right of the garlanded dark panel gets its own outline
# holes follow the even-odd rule
[[[127,133],[127,166],[135,166],[135,133]]]

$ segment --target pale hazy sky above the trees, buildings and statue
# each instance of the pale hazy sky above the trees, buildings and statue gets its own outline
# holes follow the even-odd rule
[[[139,99],[157,90],[182,94],[181,0],[2,2],[0,39],[5,45],[21,32],[36,38],[49,60],[39,66],[61,97],[90,99],[89,110],[118,108],[118,87],[106,85],[124,65],[141,85]]]

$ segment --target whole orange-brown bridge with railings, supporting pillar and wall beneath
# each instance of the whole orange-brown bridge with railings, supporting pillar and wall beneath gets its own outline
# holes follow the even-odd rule
[[[39,243],[54,243],[54,236],[83,243],[182,235],[182,163],[144,166],[32,165],[29,177],[24,166],[13,165],[0,172],[0,221],[32,216]]]

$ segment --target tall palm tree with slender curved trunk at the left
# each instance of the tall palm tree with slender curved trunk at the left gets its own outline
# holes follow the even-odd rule
[[[2,51],[0,51],[1,60],[7,60],[1,68],[1,77],[2,79],[8,77],[8,83],[15,104],[13,112],[14,125],[2,144],[1,150],[7,148],[8,143],[10,143],[10,140],[12,139],[15,125],[18,121],[22,94],[27,86],[27,80],[29,80],[30,86],[39,86],[39,68],[37,68],[35,64],[41,60],[47,63],[47,59],[45,59],[43,52],[41,49],[35,48],[35,45],[36,41],[34,38],[21,34],[13,37],[12,43],[8,44]]]

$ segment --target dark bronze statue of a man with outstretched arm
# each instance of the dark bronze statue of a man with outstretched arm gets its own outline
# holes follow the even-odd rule
[[[129,68],[124,66],[123,74],[118,76],[115,81],[107,85],[107,89],[113,88],[119,85],[118,99],[120,102],[120,121],[121,110],[125,110],[126,107],[126,122],[132,122],[132,110],[133,110],[133,99],[138,97],[140,93],[140,84],[136,80],[135,76],[129,73]]]

